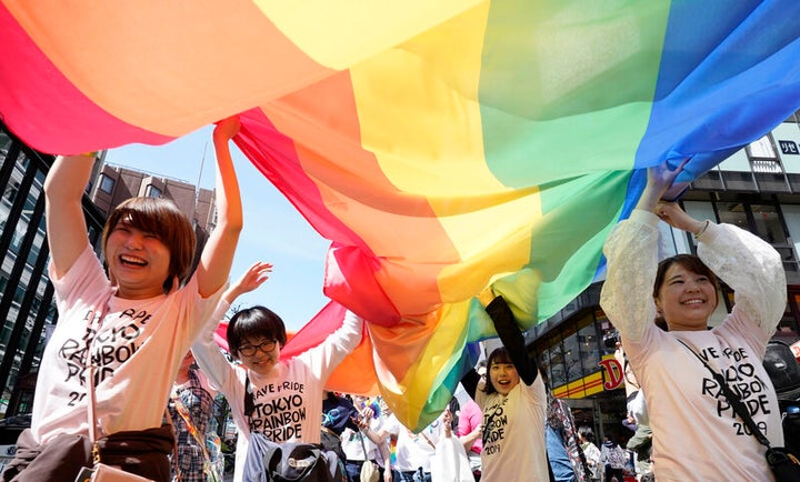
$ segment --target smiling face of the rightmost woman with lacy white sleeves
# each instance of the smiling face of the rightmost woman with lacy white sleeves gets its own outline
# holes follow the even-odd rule
[[[706,330],[717,309],[717,287],[707,275],[674,263],[654,301],[670,331]]]

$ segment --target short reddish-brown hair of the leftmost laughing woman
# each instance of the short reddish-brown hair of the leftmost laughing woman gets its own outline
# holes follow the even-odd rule
[[[162,198],[130,198],[121,202],[106,221],[102,233],[102,248],[106,252],[109,234],[120,222],[149,232],[164,243],[170,253],[170,265],[163,291],[172,289],[172,279],[178,278],[182,285],[189,279],[197,240],[189,218],[178,209],[174,202]]]

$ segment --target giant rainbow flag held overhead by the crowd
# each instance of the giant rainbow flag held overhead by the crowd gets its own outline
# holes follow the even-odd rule
[[[602,273],[643,168],[690,158],[689,181],[800,107],[797,0],[1,1],[0,114],[36,149],[240,113],[331,240],[297,347],[364,317],[330,386],[413,429],[494,334],[479,293],[546,320]]]

